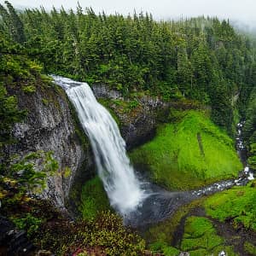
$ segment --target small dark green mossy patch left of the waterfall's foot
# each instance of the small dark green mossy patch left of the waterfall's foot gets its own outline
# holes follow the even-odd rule
[[[84,184],[81,194],[81,206],[83,218],[93,220],[102,212],[110,209],[108,196],[103,188],[102,181],[99,177],[94,177]]]

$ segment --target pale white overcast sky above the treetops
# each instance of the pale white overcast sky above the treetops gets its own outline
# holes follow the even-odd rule
[[[0,0],[0,3],[3,3]],[[53,5],[65,9],[75,9],[76,0],[9,0],[15,7],[39,7],[50,9]],[[107,14],[115,11],[127,15],[143,10],[152,13],[155,19],[172,19],[181,16],[215,15],[230,20],[256,26],[256,1],[255,0],[79,0],[80,5],[92,7],[96,13],[104,10]]]

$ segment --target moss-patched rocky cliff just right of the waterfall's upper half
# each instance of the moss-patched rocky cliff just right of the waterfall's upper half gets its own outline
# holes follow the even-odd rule
[[[94,85],[93,91],[116,116],[128,150],[154,137],[157,123],[169,107],[166,102],[151,96],[138,96],[136,101],[124,100],[118,91],[108,90],[103,84]]]

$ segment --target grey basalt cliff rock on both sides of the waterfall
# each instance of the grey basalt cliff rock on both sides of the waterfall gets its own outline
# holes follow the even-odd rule
[[[122,99],[118,91],[105,85],[95,85],[96,98]],[[38,150],[51,151],[59,162],[59,172],[48,178],[43,197],[57,207],[66,207],[72,189],[79,191],[80,185],[95,174],[95,166],[88,138],[79,127],[79,120],[72,104],[60,87],[40,84],[35,92],[10,89],[10,95],[19,99],[19,108],[27,110],[26,119],[17,123],[12,131],[16,143],[4,148],[5,154],[24,156]],[[157,99],[143,97],[130,112],[119,111],[119,106],[110,108],[119,119],[119,128],[127,148],[135,148],[154,136],[159,111],[166,105]],[[67,167],[70,173],[67,175]],[[78,186],[79,184],[79,186]],[[77,192],[76,191],[76,192]],[[78,199],[79,195],[74,197]]]

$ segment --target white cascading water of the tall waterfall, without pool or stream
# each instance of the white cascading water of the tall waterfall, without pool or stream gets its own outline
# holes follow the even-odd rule
[[[52,77],[66,90],[90,138],[97,171],[111,205],[123,215],[135,210],[146,195],[126,155],[125,141],[118,125],[108,110],[96,101],[88,84]]]

